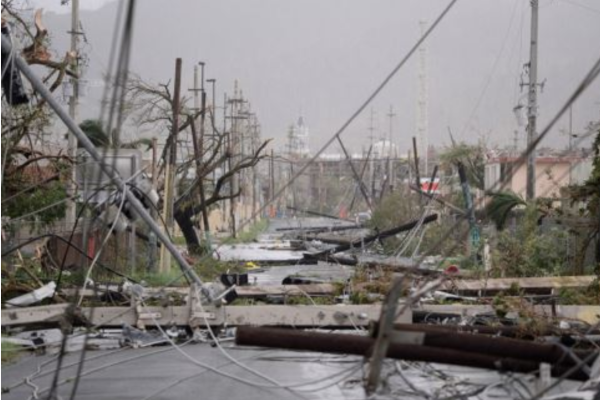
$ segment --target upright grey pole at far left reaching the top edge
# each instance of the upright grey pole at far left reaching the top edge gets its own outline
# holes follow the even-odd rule
[[[79,81],[77,73],[79,72],[79,0],[71,0],[71,70],[74,76],[71,77],[71,96],[69,97],[69,116],[77,121],[77,103],[79,98]],[[73,133],[68,134],[68,156],[71,160],[77,158],[77,138]],[[67,186],[67,195],[70,200],[67,202],[66,220],[68,225],[75,224],[77,218],[75,194],[76,185],[76,163],[71,167],[71,178]]]

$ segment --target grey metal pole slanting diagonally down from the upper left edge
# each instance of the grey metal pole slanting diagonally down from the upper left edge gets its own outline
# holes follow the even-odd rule
[[[171,252],[173,257],[179,263],[179,266],[185,276],[187,276],[191,281],[201,285],[202,292],[209,299],[212,299],[212,295],[202,286],[202,280],[196,274],[196,272],[192,269],[192,267],[185,260],[183,255],[177,250],[175,245],[171,242],[169,237],[162,231],[160,226],[154,221],[152,216],[148,213],[148,211],[144,208],[142,203],[135,197],[135,194],[131,190],[127,190],[127,185],[119,175],[119,173],[112,168],[112,166],[104,163],[102,156],[90,139],[83,133],[81,128],[77,125],[75,121],[71,117],[69,117],[68,113],[63,109],[63,107],[58,103],[58,101],[54,98],[52,93],[48,90],[48,88],[44,85],[44,83],[37,77],[37,75],[33,72],[33,70],[29,67],[29,65],[17,54],[17,52],[12,53],[12,45],[2,37],[2,48],[13,54],[14,65],[23,73],[23,75],[31,82],[34,90],[40,94],[40,96],[48,102],[48,105],[54,110],[56,115],[63,121],[63,123],[69,128],[69,130],[77,136],[77,140],[81,143],[81,146],[91,155],[94,161],[100,166],[102,172],[104,172],[107,176],[109,176],[114,184],[117,186],[122,193],[125,193],[127,201],[131,205],[131,207],[136,211],[136,213],[140,216],[140,218],[148,224],[148,227],[156,237],[165,245],[165,247]]]

